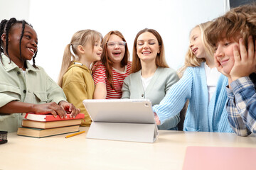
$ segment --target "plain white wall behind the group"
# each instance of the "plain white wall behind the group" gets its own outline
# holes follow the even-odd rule
[[[164,39],[169,66],[178,69],[183,65],[188,50],[191,28],[225,11],[224,0],[6,1],[0,0],[0,6],[3,3],[8,6],[4,8],[4,15],[1,8],[1,19],[10,18],[13,14],[33,25],[38,33],[36,64],[44,67],[55,81],[60,72],[64,47],[77,30],[90,28],[100,31],[103,36],[110,30],[119,30],[127,40],[132,60],[135,35],[144,28],[154,28]]]

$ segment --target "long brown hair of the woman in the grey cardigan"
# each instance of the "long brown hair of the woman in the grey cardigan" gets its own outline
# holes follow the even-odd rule
[[[156,55],[156,66],[157,67],[169,67],[164,55],[164,41],[161,38],[161,35],[154,29],[145,28],[143,30],[140,30],[139,33],[137,33],[135,39],[134,39],[134,47],[132,52],[132,73],[138,72],[140,69],[142,69],[142,64],[139,59],[139,56],[137,55],[137,40],[139,38],[139,35],[142,33],[149,32],[153,34],[157,41],[159,42],[160,52]]]

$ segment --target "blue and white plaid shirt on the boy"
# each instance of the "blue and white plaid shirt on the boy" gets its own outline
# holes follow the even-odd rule
[[[256,91],[250,77],[241,77],[227,88],[228,120],[234,132],[240,136],[256,135]]]

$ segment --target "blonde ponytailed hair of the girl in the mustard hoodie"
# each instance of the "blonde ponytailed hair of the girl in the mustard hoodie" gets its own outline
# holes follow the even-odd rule
[[[96,30],[79,30],[76,32],[71,41],[68,45],[66,45],[64,54],[63,54],[63,62],[60,69],[60,75],[58,78],[58,85],[62,87],[63,85],[63,76],[68,71],[68,67],[70,67],[71,63],[75,60],[79,60],[78,54],[78,46],[82,45],[85,46],[87,43],[91,43],[92,50],[94,48],[95,42],[101,40],[102,41],[101,33],[97,32]],[[73,50],[73,53],[70,50],[70,47]]]

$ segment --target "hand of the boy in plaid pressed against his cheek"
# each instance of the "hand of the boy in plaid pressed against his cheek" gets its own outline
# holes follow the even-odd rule
[[[256,53],[253,45],[252,36],[248,39],[248,49],[245,47],[245,43],[240,38],[239,40],[240,52],[238,46],[234,46],[234,66],[230,71],[230,77],[232,81],[239,79],[240,77],[248,77],[252,72],[256,71]]]

